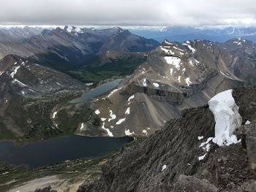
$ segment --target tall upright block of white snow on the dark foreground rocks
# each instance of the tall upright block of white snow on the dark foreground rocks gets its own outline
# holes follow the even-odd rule
[[[213,142],[217,145],[230,145],[238,140],[233,132],[242,123],[241,115],[238,113],[238,106],[232,96],[233,90],[223,91],[208,101],[209,109],[214,113],[215,138]]]

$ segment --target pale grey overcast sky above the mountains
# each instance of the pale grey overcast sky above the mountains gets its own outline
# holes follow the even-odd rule
[[[1,25],[256,26],[255,0],[0,0]]]

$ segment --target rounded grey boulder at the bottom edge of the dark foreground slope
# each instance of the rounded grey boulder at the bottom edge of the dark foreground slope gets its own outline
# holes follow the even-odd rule
[[[175,184],[174,191],[217,192],[218,189],[207,180],[199,180],[196,177],[181,174]]]

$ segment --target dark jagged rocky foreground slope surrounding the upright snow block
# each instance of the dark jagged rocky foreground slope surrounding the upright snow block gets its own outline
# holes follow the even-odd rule
[[[236,88],[233,97],[243,120],[253,123],[256,88]],[[246,150],[241,143],[210,142],[214,125],[208,105],[185,110],[139,145],[124,148],[102,167],[99,180],[78,191],[253,191]]]

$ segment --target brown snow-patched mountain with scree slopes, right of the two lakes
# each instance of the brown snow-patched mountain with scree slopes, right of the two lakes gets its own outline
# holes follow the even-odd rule
[[[221,91],[254,83],[255,63],[244,51],[253,58],[255,44],[244,41],[244,49],[240,45],[237,49],[233,42],[230,47],[230,42],[165,40],[116,89],[93,100],[97,105],[94,115],[101,121],[95,131],[106,130],[104,135],[114,137],[146,137],[162,128],[166,120],[181,116],[182,110],[203,106]],[[79,127],[79,134],[91,136],[93,131]]]

